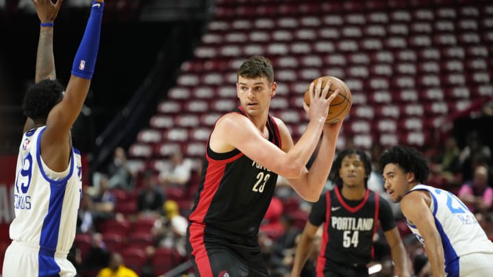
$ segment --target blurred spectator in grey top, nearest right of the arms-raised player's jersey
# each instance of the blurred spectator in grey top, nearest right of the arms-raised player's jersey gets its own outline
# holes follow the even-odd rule
[[[127,166],[127,154],[121,147],[114,150],[113,160],[108,165],[108,178],[110,188],[121,188],[127,191],[134,189],[134,176]]]

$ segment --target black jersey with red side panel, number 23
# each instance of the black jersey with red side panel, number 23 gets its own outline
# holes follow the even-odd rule
[[[247,116],[241,107],[233,112]],[[270,115],[266,127],[269,141],[281,148],[279,129]],[[239,235],[257,235],[276,182],[277,174],[240,150],[215,153],[207,143],[199,192],[189,220]]]

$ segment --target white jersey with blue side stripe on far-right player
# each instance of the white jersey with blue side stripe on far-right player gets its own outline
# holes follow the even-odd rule
[[[493,242],[466,205],[443,189],[416,185],[409,192],[414,190],[425,190],[431,196],[430,210],[442,238],[447,276],[493,276]],[[416,226],[407,225],[425,243]]]

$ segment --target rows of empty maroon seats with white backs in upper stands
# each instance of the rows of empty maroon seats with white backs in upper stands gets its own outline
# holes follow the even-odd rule
[[[251,5],[255,2],[255,5]],[[493,96],[493,5],[482,1],[229,1],[216,3],[194,57],[130,148],[163,160],[180,147],[203,156],[210,127],[238,105],[236,69],[266,55],[279,84],[271,113],[297,140],[312,79],[343,79],[354,96],[339,146],[421,148],[448,114]]]

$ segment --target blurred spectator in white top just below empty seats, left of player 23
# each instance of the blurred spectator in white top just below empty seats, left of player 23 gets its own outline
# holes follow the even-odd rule
[[[160,183],[164,186],[184,186],[190,180],[192,164],[183,158],[181,150],[176,150],[170,158],[171,165],[160,172]]]

